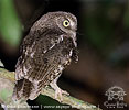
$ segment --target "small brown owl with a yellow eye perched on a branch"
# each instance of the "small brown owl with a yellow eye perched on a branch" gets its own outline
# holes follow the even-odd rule
[[[34,100],[49,85],[55,97],[65,92],[56,82],[71,61],[78,59],[76,30],[76,16],[62,11],[49,12],[33,24],[15,65],[14,100]]]

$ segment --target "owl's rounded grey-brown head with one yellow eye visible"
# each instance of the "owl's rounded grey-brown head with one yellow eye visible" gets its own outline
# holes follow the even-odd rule
[[[35,22],[31,30],[63,32],[63,34],[66,33],[76,41],[77,19],[69,12],[49,12]]]

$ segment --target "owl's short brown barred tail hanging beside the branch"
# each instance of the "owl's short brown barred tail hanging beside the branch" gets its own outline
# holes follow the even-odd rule
[[[17,81],[12,98],[14,100],[21,98],[34,100],[41,94],[41,90],[42,82],[31,82],[29,79],[23,78]]]

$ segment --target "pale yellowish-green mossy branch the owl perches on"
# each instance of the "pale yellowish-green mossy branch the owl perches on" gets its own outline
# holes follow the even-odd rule
[[[13,100],[11,98],[13,92],[13,87],[14,87],[14,72],[8,72],[4,68],[0,68],[0,103],[17,105],[17,103],[13,103]],[[45,95],[55,99],[54,97],[55,91],[51,87],[43,88],[42,95]],[[60,100],[60,99],[56,99],[56,100]],[[63,95],[63,100],[61,103],[69,105],[72,106],[72,108],[77,108],[79,110],[101,110],[96,106],[93,106],[88,102],[84,102],[68,95]],[[22,102],[22,105],[28,106],[26,102]]]

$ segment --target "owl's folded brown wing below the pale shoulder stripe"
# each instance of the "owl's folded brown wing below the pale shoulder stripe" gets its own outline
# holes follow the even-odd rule
[[[42,46],[42,45],[41,45]],[[42,80],[44,84],[46,81],[52,81],[65,66],[69,65],[71,62],[71,51],[74,48],[73,42],[65,37],[63,42],[55,44],[51,50],[39,56],[39,66],[35,66],[37,70],[31,74],[31,80]],[[37,58],[35,58],[37,59]]]

